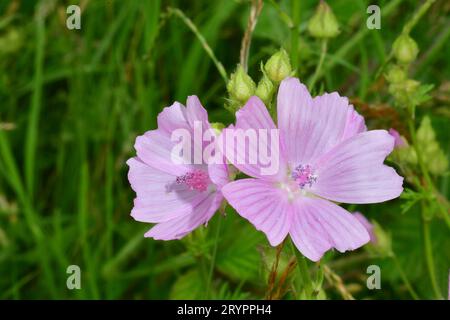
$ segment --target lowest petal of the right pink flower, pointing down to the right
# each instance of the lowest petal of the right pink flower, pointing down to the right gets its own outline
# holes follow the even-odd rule
[[[332,202],[299,198],[295,202],[289,231],[295,246],[312,261],[318,261],[331,248],[339,252],[355,250],[369,241],[358,219]]]

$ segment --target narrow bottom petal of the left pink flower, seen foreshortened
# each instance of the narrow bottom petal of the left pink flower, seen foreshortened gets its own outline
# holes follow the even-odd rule
[[[144,236],[155,240],[181,239],[200,225],[208,222],[220,207],[222,199],[220,193],[211,193],[194,208],[192,214],[158,223]]]

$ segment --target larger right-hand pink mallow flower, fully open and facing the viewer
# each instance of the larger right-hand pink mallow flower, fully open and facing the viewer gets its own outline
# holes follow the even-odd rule
[[[289,234],[313,261],[331,248],[359,248],[370,240],[369,233],[334,202],[377,203],[402,193],[403,178],[383,164],[394,138],[385,130],[366,131],[346,98],[337,93],[312,98],[296,78],[281,83],[277,99],[278,171],[262,175],[259,162],[235,164],[252,178],[225,185],[225,198],[272,246]],[[275,124],[261,100],[252,97],[236,113],[235,128],[272,129]]]

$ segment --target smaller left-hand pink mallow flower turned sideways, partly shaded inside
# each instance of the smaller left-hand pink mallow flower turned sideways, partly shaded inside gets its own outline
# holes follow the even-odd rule
[[[175,102],[158,115],[158,129],[136,138],[137,156],[127,161],[128,180],[136,192],[131,216],[137,221],[156,223],[145,237],[180,239],[211,219],[228,182],[225,164],[176,164],[171,152],[171,134],[186,129],[194,137],[194,122],[210,128],[208,114],[196,96],[187,107]],[[194,144],[192,144],[194,145]]]

